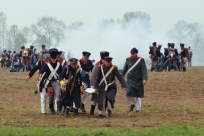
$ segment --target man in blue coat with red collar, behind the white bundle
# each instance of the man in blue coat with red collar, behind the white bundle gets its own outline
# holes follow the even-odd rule
[[[86,88],[90,88],[89,73],[93,69],[93,63],[92,63],[91,60],[89,60],[90,55],[91,55],[90,52],[87,52],[87,51],[82,52],[82,58],[79,61],[80,65],[81,65],[81,68],[82,68],[81,76],[82,76],[82,84],[84,86],[84,90]],[[86,112],[85,104],[86,104],[87,100],[88,100],[88,94],[85,93],[85,94],[82,95],[82,98],[81,98],[81,107],[80,107],[80,109],[82,110],[82,112]]]

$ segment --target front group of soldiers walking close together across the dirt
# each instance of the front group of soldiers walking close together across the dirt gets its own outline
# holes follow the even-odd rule
[[[56,112],[62,113],[64,108],[65,116],[73,112],[78,117],[78,110],[86,112],[85,105],[89,94],[84,93],[86,89],[92,88],[90,115],[94,115],[96,104],[100,118],[112,116],[117,84],[115,77],[126,90],[127,102],[130,111],[136,107],[136,112],[141,111],[141,99],[144,96],[144,85],[147,82],[147,68],[143,58],[138,57],[138,50],[133,48],[131,56],[126,59],[122,75],[117,66],[112,64],[112,57],[108,51],[100,52],[101,59],[93,66],[89,57],[90,52],[82,52],[82,58],[69,59],[69,65],[62,65],[58,56],[61,53],[56,49],[49,49],[43,53],[33,70],[26,77],[26,81],[39,70],[38,91],[41,97],[41,113],[46,115],[46,97],[48,94],[49,108],[51,115]],[[90,74],[92,72],[92,74]],[[56,111],[54,109],[56,105]],[[108,109],[108,116],[106,110]]]

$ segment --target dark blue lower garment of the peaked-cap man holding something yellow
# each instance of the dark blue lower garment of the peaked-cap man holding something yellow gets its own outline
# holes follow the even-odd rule
[[[61,105],[71,107],[71,105],[74,103],[74,108],[78,109],[80,107],[80,101],[81,96],[79,86],[75,85],[71,95],[69,90],[66,90],[65,95],[62,98]]]

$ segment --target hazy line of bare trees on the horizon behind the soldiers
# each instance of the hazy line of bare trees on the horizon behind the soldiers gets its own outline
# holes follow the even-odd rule
[[[7,26],[6,19],[6,14],[0,12],[1,51],[4,49],[18,51],[21,46],[28,44],[37,48],[40,48],[42,44],[45,44],[47,48],[57,47],[65,39],[66,30],[79,29],[85,24],[84,22],[76,21],[67,26],[62,20],[44,16],[39,18],[35,24],[20,29],[16,24]],[[132,21],[136,28],[142,26],[140,30],[144,31],[145,34],[151,35],[150,19],[150,15],[145,12],[127,12],[121,20],[104,19],[102,25],[106,27],[107,25],[119,24],[127,27],[129,22]],[[166,37],[174,43],[186,43],[195,52],[204,43],[203,32],[203,24],[198,22],[188,23],[180,20],[167,32]]]

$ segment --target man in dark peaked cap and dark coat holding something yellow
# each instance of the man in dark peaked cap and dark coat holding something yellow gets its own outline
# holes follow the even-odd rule
[[[78,117],[78,109],[80,107],[82,91],[82,79],[80,74],[80,67],[77,65],[77,59],[69,59],[70,65],[63,68],[59,75],[59,81],[62,87],[66,86],[66,92],[62,98],[61,105],[66,106],[65,116],[69,115],[69,111],[73,106],[74,117]],[[67,83],[64,82],[67,80]],[[73,105],[72,105],[73,104]]]

